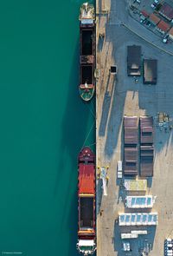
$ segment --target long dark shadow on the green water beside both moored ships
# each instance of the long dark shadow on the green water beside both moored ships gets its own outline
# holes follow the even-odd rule
[[[77,223],[78,223],[78,195],[77,195],[77,180],[78,180],[78,154],[84,146],[91,147],[95,150],[95,126],[93,123],[93,129],[88,135],[89,123],[94,122],[93,110],[95,108],[95,100],[92,102],[83,102],[80,99],[78,85],[79,85],[79,68],[76,70],[74,67],[79,67],[79,45],[76,44],[74,50],[74,58],[71,67],[71,74],[69,75],[69,87],[67,95],[67,105],[61,122],[61,154],[57,155],[59,165],[57,167],[56,180],[54,185],[54,197],[59,194],[60,188],[66,186],[69,194],[63,195],[64,213],[68,213],[69,203],[70,212],[68,213],[68,219],[61,221],[61,230],[63,232],[64,226],[67,225],[69,230],[68,238],[68,255],[79,255],[76,250],[77,242]],[[74,74],[74,71],[76,73]],[[92,108],[92,109],[91,109]],[[68,125],[67,125],[68,122]],[[70,170],[67,170],[68,163],[70,161],[73,166],[70,166]],[[67,172],[67,173],[65,173]],[[61,176],[67,175],[67,182],[62,184]],[[64,178],[63,178],[64,179]],[[73,182],[73,184],[72,184]],[[74,186],[75,182],[75,186]],[[71,194],[74,193],[73,198]],[[67,222],[66,222],[67,220]],[[71,240],[69,242],[69,240]]]

